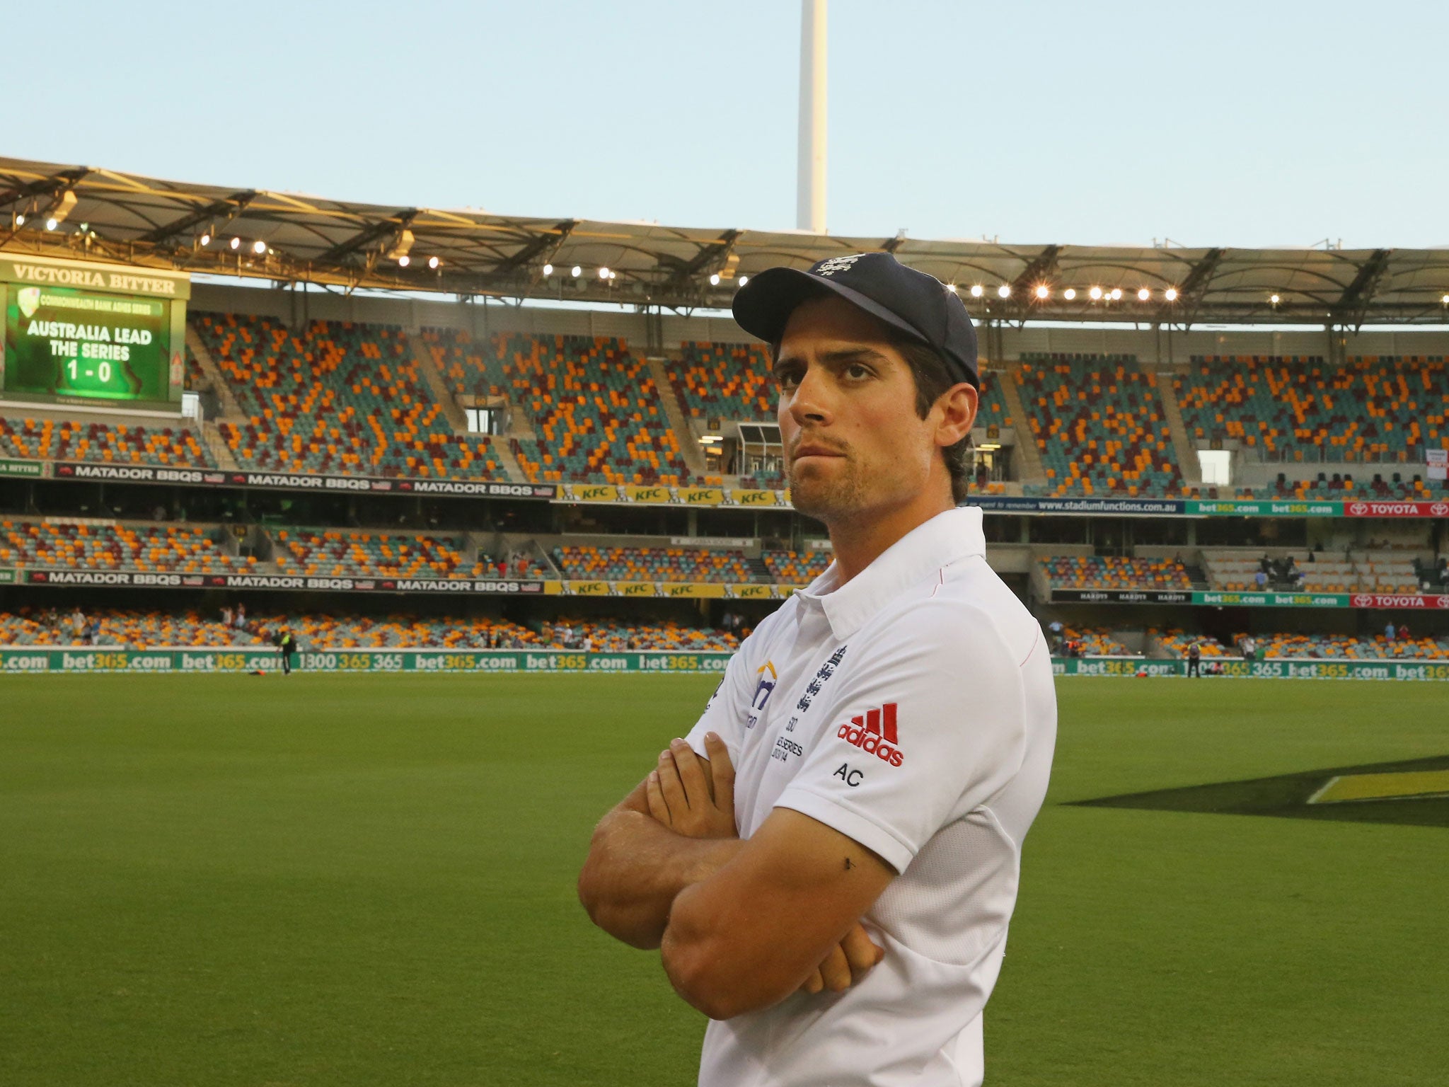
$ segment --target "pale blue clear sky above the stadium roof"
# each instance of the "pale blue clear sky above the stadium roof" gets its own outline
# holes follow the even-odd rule
[[[794,226],[796,0],[85,1],[9,23],[4,155]],[[1446,48],[1442,0],[830,0],[829,226],[1449,243]]]

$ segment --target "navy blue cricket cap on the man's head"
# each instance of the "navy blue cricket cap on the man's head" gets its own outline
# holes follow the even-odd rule
[[[778,345],[796,306],[835,294],[932,348],[956,381],[977,388],[977,329],[966,307],[935,275],[907,268],[888,252],[832,257],[798,268],[768,268],[735,291],[735,320]]]

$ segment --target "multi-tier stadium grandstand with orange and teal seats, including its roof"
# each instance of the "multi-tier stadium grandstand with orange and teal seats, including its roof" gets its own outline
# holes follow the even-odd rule
[[[185,306],[167,403],[0,404],[7,645],[70,644],[45,617],[78,606],[90,644],[136,649],[265,648],[284,625],[380,652],[729,648],[830,564],[790,509],[769,346],[730,293],[888,248],[980,326],[969,500],[1064,648],[1235,659],[1250,632],[1258,659],[1442,654],[1436,254],[403,223],[0,159],[12,210],[62,191],[90,248],[25,226],[6,255],[174,277]],[[213,219],[226,245],[201,243]],[[238,596],[248,629],[222,623]],[[1388,641],[1401,609],[1414,635]]]

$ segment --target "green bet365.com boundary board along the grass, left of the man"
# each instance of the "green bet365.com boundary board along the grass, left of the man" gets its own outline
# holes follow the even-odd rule
[[[294,667],[319,672],[656,672],[722,674],[727,652],[558,649],[303,649]],[[280,672],[281,654],[235,649],[0,649],[0,672]]]

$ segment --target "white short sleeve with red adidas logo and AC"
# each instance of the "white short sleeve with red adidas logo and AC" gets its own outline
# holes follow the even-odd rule
[[[1011,780],[1026,709],[1019,662],[985,613],[926,604],[893,626],[838,672],[829,725],[775,806],[900,872]]]

